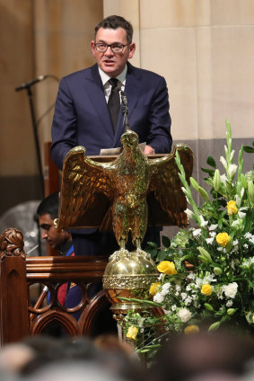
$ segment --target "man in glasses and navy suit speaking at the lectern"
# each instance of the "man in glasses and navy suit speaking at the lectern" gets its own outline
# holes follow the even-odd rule
[[[53,161],[59,169],[74,146],[85,146],[86,155],[100,155],[101,148],[121,146],[122,112],[118,111],[115,120],[108,108],[111,90],[113,93],[116,88],[118,102],[121,101],[119,90],[127,95],[129,127],[136,131],[140,143],[145,142],[145,155],[171,152],[167,84],[161,75],[128,63],[136,49],[132,35],[132,25],[124,18],[109,16],[102,20],[95,27],[91,42],[97,63],[61,80],[51,147]],[[112,78],[117,78],[113,80],[116,84],[110,81]],[[83,233],[79,236],[73,233],[76,254],[111,253],[118,247],[112,235],[91,229],[87,229],[86,236]],[[76,245],[77,238],[82,239],[82,247]],[[149,240],[158,242],[158,238],[156,233]]]

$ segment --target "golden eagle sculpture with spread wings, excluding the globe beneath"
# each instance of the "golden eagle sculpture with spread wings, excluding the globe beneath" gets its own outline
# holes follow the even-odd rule
[[[193,153],[186,145],[178,145],[172,154],[150,158],[138,145],[138,136],[131,129],[121,137],[122,152],[112,161],[99,162],[85,156],[83,146],[75,146],[66,155],[59,205],[58,229],[83,227],[83,217],[101,213],[92,208],[95,199],[107,199],[100,221],[100,229],[113,228],[121,249],[125,249],[129,232],[139,249],[148,221],[147,195],[153,192],[171,223],[186,226],[186,198],[181,190],[175,163],[175,152],[180,154],[187,179],[192,173]],[[85,225],[87,227],[87,224]]]

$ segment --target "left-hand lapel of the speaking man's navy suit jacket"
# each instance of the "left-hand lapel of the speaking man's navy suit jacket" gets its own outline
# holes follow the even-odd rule
[[[92,66],[91,71],[86,73],[84,88],[88,94],[89,99],[92,102],[96,114],[101,120],[101,125],[107,130],[109,137],[113,140],[114,131],[111,125],[108,106],[105,100],[105,95],[101,83],[101,76],[99,74],[97,65]]]

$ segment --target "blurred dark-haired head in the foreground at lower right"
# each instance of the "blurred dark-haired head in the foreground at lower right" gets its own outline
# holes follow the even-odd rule
[[[147,380],[214,380],[215,375],[230,380],[244,376],[250,359],[254,359],[253,337],[230,330],[175,335],[158,351]]]

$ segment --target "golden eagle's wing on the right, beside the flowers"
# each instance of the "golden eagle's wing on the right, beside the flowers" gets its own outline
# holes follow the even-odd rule
[[[186,145],[177,145],[171,154],[162,158],[150,159],[152,177],[149,191],[153,191],[155,199],[160,203],[162,210],[170,217],[172,225],[187,226],[186,197],[181,190],[179,168],[175,162],[176,151],[186,173],[187,181],[193,170],[193,152]]]

